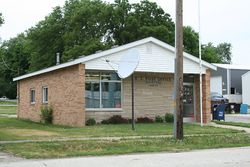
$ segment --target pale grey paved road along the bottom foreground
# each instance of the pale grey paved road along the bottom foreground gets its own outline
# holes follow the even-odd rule
[[[150,153],[103,157],[25,160],[0,167],[249,167],[250,147],[181,153]]]

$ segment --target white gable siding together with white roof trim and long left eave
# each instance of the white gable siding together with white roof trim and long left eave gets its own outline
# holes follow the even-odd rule
[[[131,42],[116,48],[108,49],[103,52],[95,53],[89,56],[80,57],[70,62],[55,65],[39,71],[28,73],[13,79],[13,81],[22,80],[33,77],[50,71],[69,67],[79,63],[86,64],[86,69],[92,70],[114,70],[121,60],[121,57],[126,54],[129,49],[136,48],[141,54],[141,61],[136,71],[141,72],[174,72],[174,51],[175,48],[153,37],[144,38],[135,42]],[[184,73],[198,74],[199,59],[190,54],[183,53],[184,57]],[[111,67],[106,59],[110,60]],[[202,61],[203,73],[207,68],[216,70],[217,67]]]

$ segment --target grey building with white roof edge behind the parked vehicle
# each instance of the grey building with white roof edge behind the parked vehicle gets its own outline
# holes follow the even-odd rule
[[[211,72],[211,92],[217,92],[229,99],[230,103],[242,103],[241,76],[250,71],[249,66],[213,64],[217,71]]]

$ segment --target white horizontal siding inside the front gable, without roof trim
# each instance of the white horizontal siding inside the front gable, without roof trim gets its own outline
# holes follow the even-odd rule
[[[136,68],[137,72],[174,73],[174,52],[158,46],[152,42],[138,45],[133,48],[136,48],[140,53],[140,62],[138,67]],[[105,57],[92,59],[85,62],[85,68],[88,70],[114,70],[114,68],[117,69],[122,56],[126,53],[127,50],[122,50]],[[107,63],[106,60],[109,60],[110,63]],[[199,73],[199,64],[197,62],[184,57],[183,64],[184,73]],[[205,73],[205,70],[206,68],[203,67],[203,73]]]

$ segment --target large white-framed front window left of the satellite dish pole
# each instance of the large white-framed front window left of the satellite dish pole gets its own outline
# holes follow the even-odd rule
[[[121,79],[116,73],[87,73],[86,108],[121,108]]]

